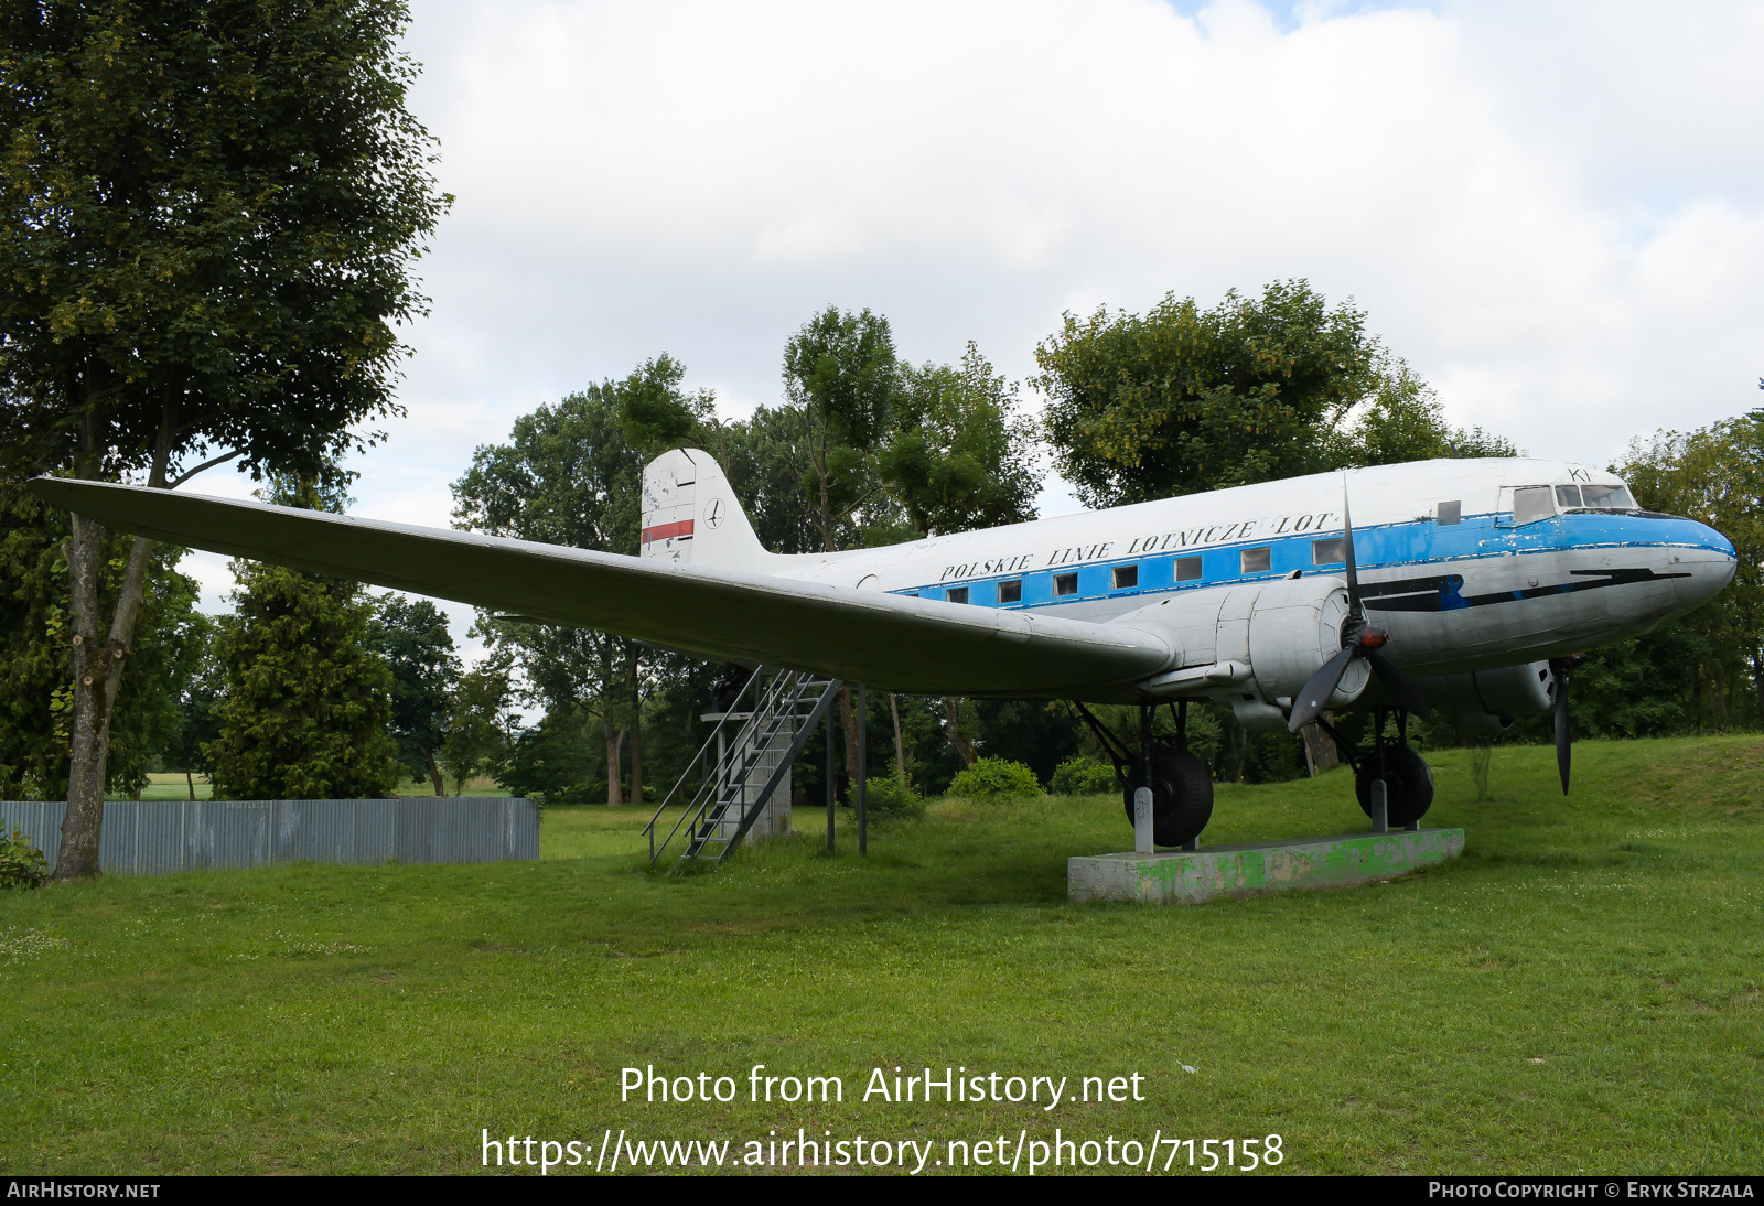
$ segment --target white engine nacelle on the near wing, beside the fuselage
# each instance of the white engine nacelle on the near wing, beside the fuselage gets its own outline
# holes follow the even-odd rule
[[[1277,578],[1222,591],[1161,599],[1120,617],[1118,624],[1157,631],[1182,651],[1182,668],[1147,686],[1162,695],[1210,695],[1231,704],[1252,728],[1284,725],[1279,709],[1341,652],[1348,585],[1341,578]],[[1360,698],[1371,679],[1355,659],[1330,696],[1330,707]]]

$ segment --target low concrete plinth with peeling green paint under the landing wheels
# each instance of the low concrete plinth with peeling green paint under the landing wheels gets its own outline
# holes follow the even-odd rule
[[[1344,887],[1390,880],[1464,853],[1462,829],[1339,834],[1297,841],[1245,841],[1203,850],[1110,853],[1069,859],[1065,894],[1074,901],[1200,904],[1215,896]]]

